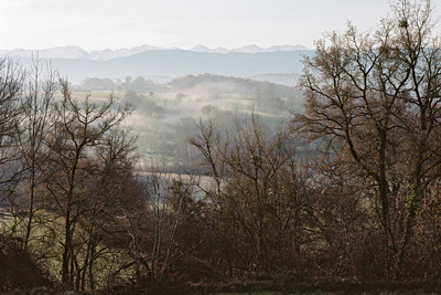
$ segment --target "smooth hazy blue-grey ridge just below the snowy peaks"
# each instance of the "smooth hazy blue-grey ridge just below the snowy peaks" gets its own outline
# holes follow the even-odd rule
[[[312,50],[218,53],[166,49],[146,50],[128,56],[99,61],[89,59],[78,48],[71,48],[71,51],[74,50],[78,54],[54,55],[65,57],[43,54],[43,60],[51,59],[52,64],[74,83],[86,77],[178,77],[204,73],[240,77],[267,76],[270,80],[271,74],[298,75],[302,71],[303,56],[312,56],[314,53]],[[15,56],[13,52],[9,55]],[[20,59],[24,63],[30,61],[29,54],[22,54]]]

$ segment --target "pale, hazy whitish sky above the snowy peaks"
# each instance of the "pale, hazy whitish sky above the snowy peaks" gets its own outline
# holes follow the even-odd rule
[[[389,0],[0,0],[0,50],[312,48],[324,31],[373,28],[388,10]]]

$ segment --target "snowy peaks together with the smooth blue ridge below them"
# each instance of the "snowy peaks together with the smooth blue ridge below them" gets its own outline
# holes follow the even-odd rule
[[[257,77],[258,80],[293,85],[301,72],[303,55],[312,50],[301,45],[261,49],[249,45],[241,49],[208,49],[197,45],[190,50],[160,49],[148,45],[87,52],[68,46],[40,51],[0,51],[0,55],[19,57],[24,64],[32,55],[52,60],[60,72],[73,83],[90,77],[118,78],[125,76],[157,76],[172,78],[187,74],[218,74],[226,76]]]

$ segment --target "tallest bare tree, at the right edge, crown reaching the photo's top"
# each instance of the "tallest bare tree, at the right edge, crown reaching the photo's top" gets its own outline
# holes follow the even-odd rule
[[[387,275],[404,271],[416,213],[441,172],[441,42],[430,0],[399,0],[378,28],[329,33],[305,59],[293,124],[368,180]],[[330,149],[331,150],[331,149]],[[366,182],[364,182],[366,183]]]

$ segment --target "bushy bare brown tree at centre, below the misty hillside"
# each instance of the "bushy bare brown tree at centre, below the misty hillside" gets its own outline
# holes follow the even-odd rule
[[[271,273],[295,263],[299,255],[288,259],[282,249],[300,249],[304,196],[287,126],[271,131],[251,113],[237,119],[232,133],[219,133],[213,122],[198,127],[191,144],[213,176],[214,186],[205,192],[215,212],[213,225],[226,238],[223,253],[230,273]]]

